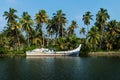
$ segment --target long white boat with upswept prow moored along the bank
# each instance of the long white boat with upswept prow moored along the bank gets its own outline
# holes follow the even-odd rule
[[[74,50],[54,51],[47,48],[34,49],[27,51],[26,56],[79,56],[81,44]]]

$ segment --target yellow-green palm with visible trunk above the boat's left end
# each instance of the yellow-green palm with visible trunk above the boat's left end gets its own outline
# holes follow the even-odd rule
[[[23,12],[22,18],[20,18],[20,24],[22,26],[22,29],[26,32],[27,35],[27,44],[30,46],[30,32],[32,30],[33,20],[31,19],[31,16],[28,14],[28,12]]]

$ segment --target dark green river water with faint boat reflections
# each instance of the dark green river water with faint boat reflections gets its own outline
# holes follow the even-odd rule
[[[0,58],[0,80],[120,80],[120,58]]]

